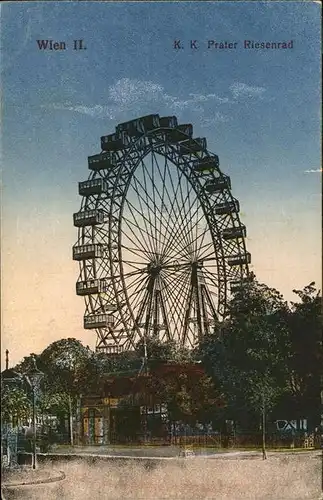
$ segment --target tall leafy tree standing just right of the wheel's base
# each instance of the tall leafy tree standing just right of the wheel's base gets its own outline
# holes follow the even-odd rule
[[[282,295],[256,280],[236,293],[220,331],[203,341],[200,355],[223,391],[226,418],[259,425],[287,390],[288,306]]]

